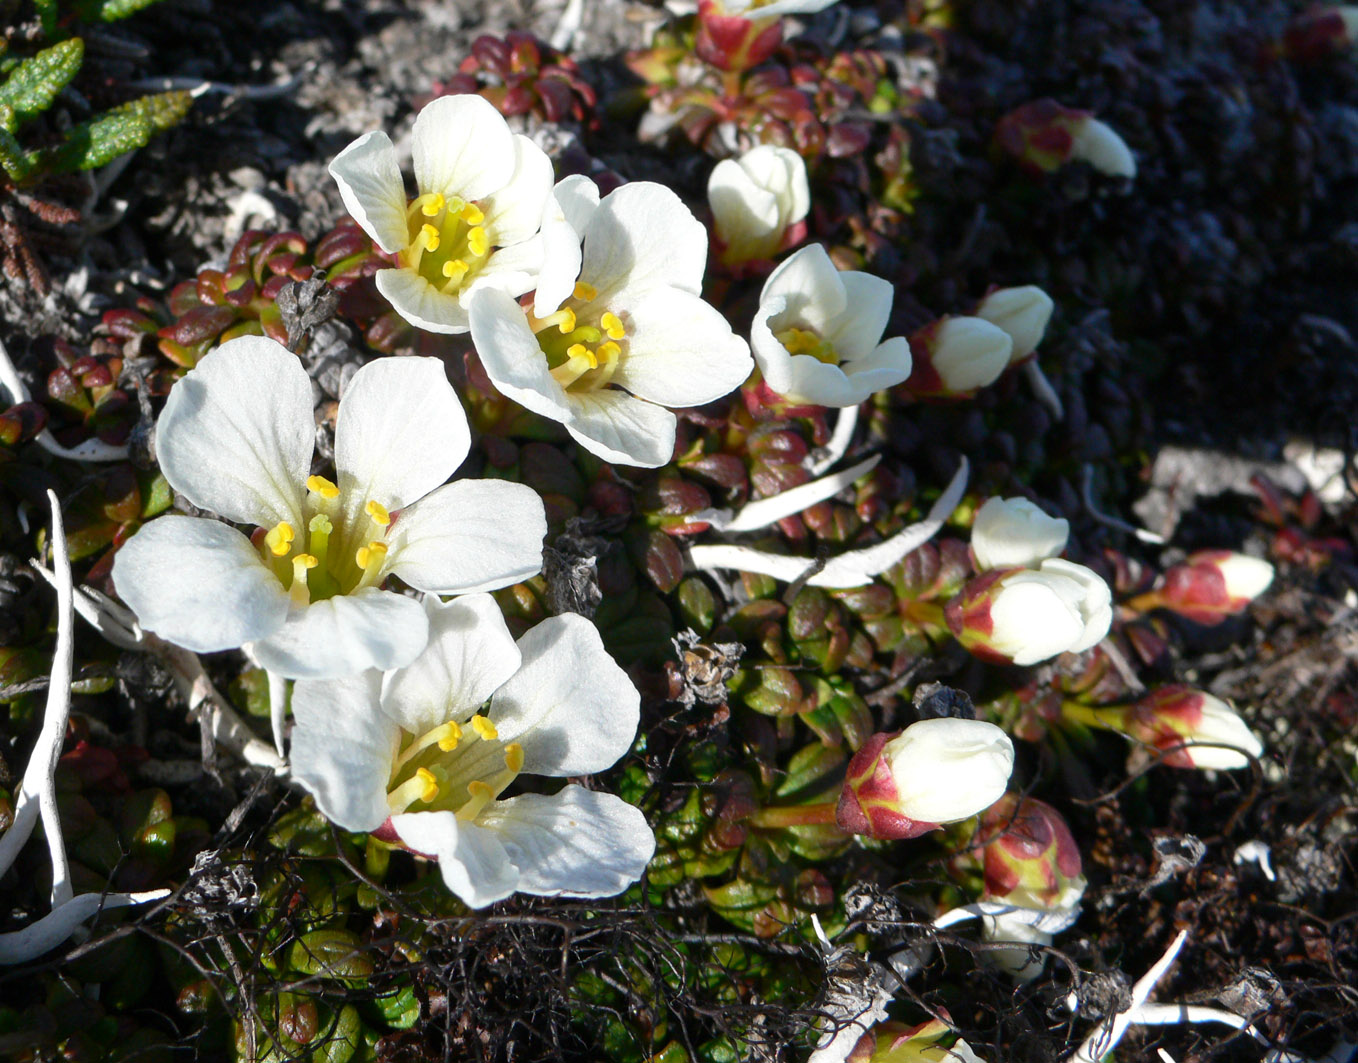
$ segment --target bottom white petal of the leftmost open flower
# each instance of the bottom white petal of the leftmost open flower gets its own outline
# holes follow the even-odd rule
[[[295,607],[273,634],[247,649],[262,668],[289,679],[334,679],[403,668],[429,638],[424,607],[369,586]]]

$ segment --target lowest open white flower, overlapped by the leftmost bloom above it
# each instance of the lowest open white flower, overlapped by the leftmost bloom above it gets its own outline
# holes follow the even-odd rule
[[[475,908],[626,889],[655,851],[638,809],[577,785],[500,800],[523,772],[589,775],[631,745],[640,696],[599,633],[565,615],[515,644],[489,595],[425,608],[409,667],[297,683],[292,767],[316,806],[437,859]]]

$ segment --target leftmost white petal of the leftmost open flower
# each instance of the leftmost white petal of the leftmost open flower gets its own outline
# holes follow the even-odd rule
[[[137,623],[194,653],[235,649],[278,630],[288,592],[235,528],[164,516],[118,550],[113,585]]]

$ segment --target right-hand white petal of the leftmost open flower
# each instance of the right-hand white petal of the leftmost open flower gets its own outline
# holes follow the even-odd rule
[[[463,479],[401,510],[387,536],[384,573],[435,595],[496,591],[540,572],[546,534],[546,510],[532,487]]]

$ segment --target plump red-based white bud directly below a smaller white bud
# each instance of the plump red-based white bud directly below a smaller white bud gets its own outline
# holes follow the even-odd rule
[[[1112,593],[1084,565],[1050,558],[1036,569],[995,569],[968,582],[944,616],[971,653],[1038,664],[1097,645],[1112,626]]]

